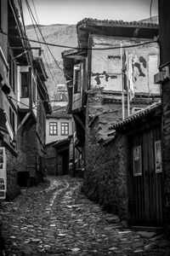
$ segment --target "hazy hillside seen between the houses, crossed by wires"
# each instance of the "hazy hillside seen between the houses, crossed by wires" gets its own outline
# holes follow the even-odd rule
[[[55,24],[50,26],[40,25],[40,28],[42,31],[42,35],[47,43],[62,44],[62,45],[77,47],[76,25],[65,25],[65,24]],[[39,41],[43,41],[42,36],[40,35],[40,32],[37,29],[36,29],[36,32],[37,32]],[[28,38],[37,40],[36,32],[32,25],[26,26],[26,33]],[[40,44],[31,43],[31,46],[40,47]],[[46,60],[48,62],[48,65],[47,65],[42,55],[42,59],[44,61],[46,71],[48,73],[48,78],[49,78],[47,82],[48,93],[52,96],[55,96],[57,94],[56,84],[65,84],[64,73],[59,69],[59,67],[63,68],[61,52],[65,50],[65,48],[49,46],[55,59],[59,63],[59,67],[57,67],[53,57],[48,52],[47,47],[43,44],[41,44],[41,47],[44,55],[46,56]],[[34,55],[38,55],[38,50],[34,50]],[[52,74],[49,72],[48,67],[50,68]],[[54,79],[52,79],[52,75]],[[54,83],[54,80],[56,81],[56,83]]]

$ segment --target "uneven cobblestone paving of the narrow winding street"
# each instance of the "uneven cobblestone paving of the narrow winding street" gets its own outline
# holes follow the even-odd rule
[[[81,194],[81,185],[81,179],[50,177],[50,185],[22,189],[3,202],[7,255],[170,255],[163,235],[123,228]]]

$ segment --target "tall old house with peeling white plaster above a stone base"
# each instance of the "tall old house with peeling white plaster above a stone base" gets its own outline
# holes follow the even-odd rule
[[[111,125],[160,100],[160,85],[154,84],[159,66],[159,48],[154,41],[157,33],[157,25],[144,22],[85,19],[77,24],[78,49],[62,53],[68,80],[68,111],[76,124],[73,148],[82,152],[85,168],[84,190],[122,219],[127,219],[123,210],[127,207],[123,189],[127,180],[123,180],[121,171],[126,158],[121,152],[117,154],[119,143],[111,144],[105,153],[103,146]],[[129,59],[133,60],[131,64]],[[125,90],[130,84],[126,79],[128,71],[124,72],[127,65],[133,69],[133,96],[132,91]],[[117,162],[123,158],[119,169],[108,160],[110,155]]]

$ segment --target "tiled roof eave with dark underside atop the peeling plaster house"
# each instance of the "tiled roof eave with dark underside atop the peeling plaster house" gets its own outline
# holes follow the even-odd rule
[[[140,38],[153,40],[158,36],[157,24],[142,21],[97,20],[84,19],[77,23],[77,38],[79,49],[88,48],[90,34],[121,38]]]

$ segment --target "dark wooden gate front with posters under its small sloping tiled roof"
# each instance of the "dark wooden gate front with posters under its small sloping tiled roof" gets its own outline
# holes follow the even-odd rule
[[[127,137],[128,224],[164,225],[161,103],[114,125]]]

